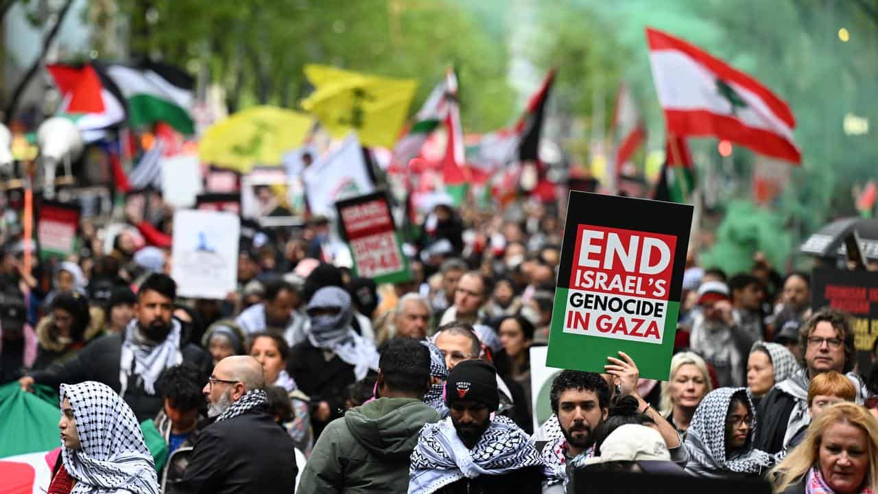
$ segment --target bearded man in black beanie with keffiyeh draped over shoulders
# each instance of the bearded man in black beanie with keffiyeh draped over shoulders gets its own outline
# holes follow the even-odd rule
[[[450,417],[421,429],[412,453],[409,494],[536,493],[551,475],[528,435],[491,417],[500,405],[497,371],[465,360],[445,381]]]

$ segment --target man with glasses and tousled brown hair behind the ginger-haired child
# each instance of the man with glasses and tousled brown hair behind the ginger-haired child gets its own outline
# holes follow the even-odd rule
[[[808,388],[819,374],[836,371],[847,375],[856,389],[856,403],[867,395],[860,376],[854,374],[856,350],[850,320],[836,309],[821,309],[802,324],[799,339],[804,348],[802,370],[774,385],[759,403],[753,446],[767,453],[789,447],[795,433],[810,424]]]

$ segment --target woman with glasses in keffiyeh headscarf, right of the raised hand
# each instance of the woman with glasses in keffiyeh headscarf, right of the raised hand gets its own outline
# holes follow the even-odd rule
[[[753,403],[745,388],[719,388],[698,405],[686,435],[694,476],[758,476],[776,458],[752,447],[756,428]]]

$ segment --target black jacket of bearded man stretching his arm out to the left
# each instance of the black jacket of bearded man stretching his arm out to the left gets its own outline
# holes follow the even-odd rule
[[[212,360],[210,353],[195,345],[183,346],[183,360],[191,362],[202,372],[209,373]],[[119,392],[119,369],[122,359],[122,337],[118,334],[103,336],[86,345],[72,359],[31,374],[34,381],[55,389],[62,382],[99,381]],[[131,406],[139,422],[155,417],[162,410],[162,397],[150,395],[143,389],[143,382],[136,375],[130,376],[125,390],[125,401]]]

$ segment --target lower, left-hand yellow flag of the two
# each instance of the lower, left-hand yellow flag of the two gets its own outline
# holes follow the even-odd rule
[[[254,106],[208,127],[198,143],[198,157],[247,173],[257,164],[280,164],[284,153],[305,142],[312,126],[313,119],[304,113]]]

